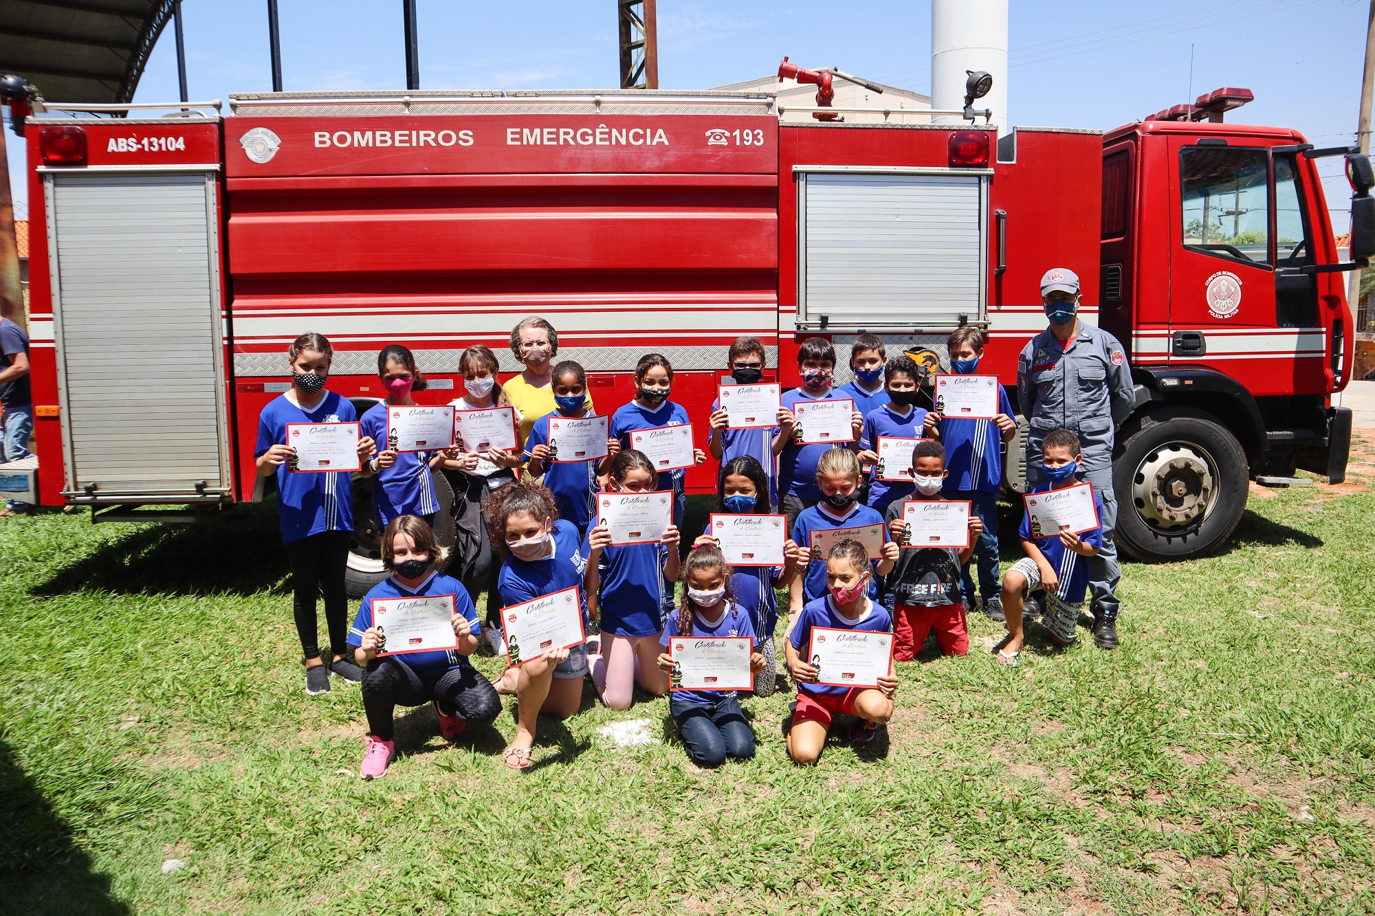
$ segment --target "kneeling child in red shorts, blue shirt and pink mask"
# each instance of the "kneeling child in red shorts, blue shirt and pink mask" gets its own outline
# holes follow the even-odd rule
[[[832,545],[826,557],[826,594],[807,604],[784,649],[788,653],[788,673],[798,682],[798,706],[788,732],[788,756],[795,763],[815,763],[826,744],[826,732],[836,712],[852,715],[858,721],[850,728],[850,740],[872,741],[879,726],[892,718],[892,695],[898,678],[892,662],[886,674],[876,678],[876,686],[835,686],[821,684],[829,678],[814,663],[806,662],[814,627],[858,633],[887,633],[892,619],[877,601],[868,597],[872,576],[869,554],[858,541]]]

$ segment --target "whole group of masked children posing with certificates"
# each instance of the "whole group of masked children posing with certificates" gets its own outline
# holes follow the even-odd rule
[[[976,374],[982,351],[978,329],[954,331],[949,340],[952,371]],[[258,472],[276,476],[307,692],[329,690],[331,674],[362,682],[370,732],[360,766],[364,778],[382,776],[395,755],[396,706],[430,701],[441,733],[454,740],[491,722],[500,711],[500,693],[514,695],[517,701],[517,734],[503,761],[512,769],[527,769],[538,717],[573,715],[586,675],[591,674],[602,703],[615,710],[631,706],[637,684],[653,696],[667,693],[672,671],[668,646],[675,637],[749,638],[755,693],[770,695],[777,688],[781,589],[789,596],[785,667],[798,685],[788,752],[793,761],[810,763],[820,756],[836,712],[855,717],[852,740],[872,740],[892,715],[898,688],[891,664],[874,688],[821,684],[806,655],[814,627],[891,631],[894,662],[913,660],[932,630],[943,652],[965,655],[965,616],[976,607],[978,576],[984,612],[1006,620],[1008,640],[997,659],[1016,664],[1024,611],[1037,607],[1027,596],[1048,593],[1042,601],[1048,623],[1055,615],[1062,623],[1070,613],[1077,616],[1086,557],[1101,543],[1096,531],[1033,536],[1023,521],[1019,534],[1026,557],[1000,587],[996,499],[1002,483],[1001,443],[1016,433],[1011,403],[1000,388],[997,418],[942,417],[925,385],[927,370],[908,355],[890,359],[883,340],[873,334],[855,338],[850,353],[854,378],[840,386],[832,384],[836,353],[830,341],[804,340],[798,352],[803,384],[782,395],[771,428],[729,428],[726,411],[719,403],[712,406],[708,448],[720,461],[714,512],[785,514],[789,536],[780,567],[732,568],[710,528],[689,550],[681,550],[683,472],[660,473],[649,457],[631,447],[637,430],[689,422],[686,410],[670,399],[674,370],[660,353],[646,353],[635,367],[635,396],[609,419],[608,454],[583,462],[553,461],[549,433],[551,418],[594,413],[586,373],[576,362],[553,369],[553,413],[534,421],[516,417],[528,429],[522,448],[403,452],[386,447],[386,408],[414,404],[412,392],[425,389],[411,352],[400,345],[381,351],[378,377],[386,397],[360,419],[346,399],[326,391],[331,358],[329,341],[318,334],[304,334],[292,344],[293,386],[263,410],[256,454]],[[737,340],[727,358],[730,380],[759,382],[764,362],[758,340]],[[466,395],[452,402],[455,407],[510,406],[496,385],[498,363],[488,348],[465,351],[461,370]],[[793,407],[824,399],[852,400],[851,443],[799,441]],[[293,473],[286,424],[355,419],[360,422],[360,473],[374,477],[373,509],[378,528],[384,528],[381,553],[390,575],[368,591],[348,629],[344,565],[353,531],[351,475]],[[873,473],[880,437],[921,440],[913,447],[910,481]],[[707,454],[696,450],[694,459],[703,464]],[[1077,483],[1078,443],[1071,433],[1048,435],[1044,461],[1046,488]],[[436,473],[454,484],[459,541],[470,557],[461,569],[452,568],[433,532],[440,510]],[[671,492],[672,523],[659,543],[613,543],[606,525],[597,524],[598,491]],[[969,546],[903,546],[902,503],[943,499],[971,503]],[[881,549],[870,556],[859,539],[848,536],[830,543],[825,556],[813,549],[815,534],[850,528],[876,532]],[[675,598],[679,583],[682,594]],[[569,589],[578,590],[584,629],[595,619],[598,637],[512,664],[495,684],[470,664],[481,640],[505,651],[500,608]],[[315,600],[320,593],[327,652],[316,635]],[[487,615],[480,620],[476,604],[483,593]],[[378,657],[385,652],[385,637],[374,626],[371,602],[440,596],[455,596],[451,622],[456,648]],[[1057,642],[1072,640],[1072,623],[1068,630],[1050,630]],[[701,766],[755,752],[754,733],[734,690],[674,690],[670,712],[689,756]]]

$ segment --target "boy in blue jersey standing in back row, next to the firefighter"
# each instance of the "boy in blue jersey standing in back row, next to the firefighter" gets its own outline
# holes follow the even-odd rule
[[[975,375],[983,358],[983,331],[971,325],[957,327],[949,340],[950,370],[956,375]],[[939,437],[946,447],[946,499],[968,499],[971,510],[983,523],[983,534],[974,550],[974,561],[965,561],[962,593],[965,612],[974,611],[974,576],[971,563],[978,564],[979,594],[983,612],[991,620],[1002,620],[1002,601],[998,598],[998,490],[1002,487],[1002,443],[1018,435],[1012,419],[1012,402],[998,386],[998,415],[993,419],[962,419],[928,413],[927,436]]]

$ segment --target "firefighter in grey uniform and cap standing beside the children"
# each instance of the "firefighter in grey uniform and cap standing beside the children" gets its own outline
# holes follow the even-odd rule
[[[1116,497],[1112,492],[1112,432],[1136,406],[1132,370],[1118,340],[1078,318],[1078,275],[1055,267],[1041,278],[1041,303],[1050,326],[1031,338],[1018,359],[1018,395],[1022,415],[1031,424],[1027,435],[1027,486],[1044,481],[1041,440],[1063,426],[1079,437],[1084,465],[1079,479],[1093,484],[1103,501],[1103,549],[1090,560],[1089,596],[1093,609],[1093,642],[1101,649],[1118,645],[1121,611],[1114,590],[1118,569],[1112,528]]]

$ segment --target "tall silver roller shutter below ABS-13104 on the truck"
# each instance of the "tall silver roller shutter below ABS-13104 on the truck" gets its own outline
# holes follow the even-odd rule
[[[230,494],[213,172],[44,175],[69,501]]]

